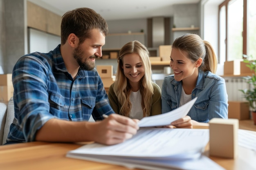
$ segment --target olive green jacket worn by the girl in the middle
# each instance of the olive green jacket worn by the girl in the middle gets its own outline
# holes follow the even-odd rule
[[[118,101],[117,96],[114,92],[114,89],[113,89],[114,84],[115,83],[111,84],[111,86],[108,89],[108,99],[110,102],[110,106],[113,108],[115,113],[119,114],[121,104]],[[162,113],[161,89],[154,82],[152,82],[152,84],[153,84],[153,88],[154,88],[154,94],[153,94],[153,98],[152,98],[150,116],[159,115]]]

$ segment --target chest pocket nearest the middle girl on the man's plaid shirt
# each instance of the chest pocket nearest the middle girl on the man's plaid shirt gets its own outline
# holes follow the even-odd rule
[[[89,120],[90,116],[92,115],[93,109],[96,105],[96,98],[95,97],[86,97],[81,99],[82,105],[82,114],[84,120]]]

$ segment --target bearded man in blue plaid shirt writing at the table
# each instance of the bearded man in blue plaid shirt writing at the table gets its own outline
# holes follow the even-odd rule
[[[136,134],[136,120],[111,114],[114,111],[94,68],[107,33],[106,21],[92,9],[68,11],[56,49],[18,60],[12,77],[15,119],[7,144],[95,141],[111,145]],[[103,119],[103,114],[108,118]],[[88,122],[91,115],[96,122]]]

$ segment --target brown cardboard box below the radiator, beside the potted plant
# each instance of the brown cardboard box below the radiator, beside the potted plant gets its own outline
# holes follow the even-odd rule
[[[229,101],[228,117],[238,120],[250,119],[249,103],[243,101]]]

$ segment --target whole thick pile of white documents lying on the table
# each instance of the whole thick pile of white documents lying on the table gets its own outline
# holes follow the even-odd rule
[[[66,156],[145,170],[223,170],[202,155],[208,142],[209,129],[140,128],[121,144],[87,144]]]

